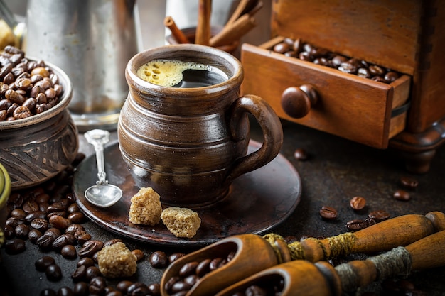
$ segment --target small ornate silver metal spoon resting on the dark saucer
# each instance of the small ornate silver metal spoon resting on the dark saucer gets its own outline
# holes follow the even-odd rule
[[[108,184],[105,179],[107,174],[105,173],[104,145],[109,141],[109,132],[102,129],[93,129],[85,133],[85,138],[88,143],[95,146],[97,177],[99,177],[96,185],[92,185],[85,190],[85,197],[88,202],[97,207],[111,207],[122,197],[122,190],[115,185]]]

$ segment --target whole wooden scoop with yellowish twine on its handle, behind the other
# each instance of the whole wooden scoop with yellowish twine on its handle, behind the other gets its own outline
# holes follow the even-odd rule
[[[235,252],[232,260],[200,278],[199,283],[187,295],[213,295],[243,278],[279,263],[296,259],[317,262],[350,253],[388,251],[397,246],[407,246],[433,234],[435,230],[444,229],[445,214],[430,212],[425,216],[408,214],[395,217],[353,234],[346,233],[323,240],[306,239],[287,246],[277,236],[272,236],[271,239],[270,234],[264,237],[255,234],[230,236],[169,265],[161,279],[161,295],[168,295],[166,283],[177,276],[186,263],[201,262],[206,258],[224,258],[231,251]],[[336,244],[338,246],[334,246]],[[323,250],[326,256],[323,255]]]

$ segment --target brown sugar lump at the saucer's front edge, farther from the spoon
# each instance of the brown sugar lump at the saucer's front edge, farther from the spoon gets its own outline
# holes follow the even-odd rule
[[[161,214],[163,224],[166,224],[168,231],[176,237],[186,237],[191,239],[195,236],[201,225],[198,213],[191,209],[181,207],[168,207]]]

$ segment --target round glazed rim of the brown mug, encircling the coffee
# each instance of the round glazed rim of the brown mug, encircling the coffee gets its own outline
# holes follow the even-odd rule
[[[216,65],[211,65],[213,67],[217,67],[220,70],[223,70],[223,72],[225,72],[227,75],[227,80],[207,87],[191,87],[191,88],[164,87],[143,80],[136,74],[139,67],[141,67],[141,65],[144,65],[146,62],[150,62],[151,60],[157,60],[157,59],[175,60],[183,57],[183,55],[179,54],[183,52],[206,54],[209,56],[213,56],[214,58],[212,60],[222,61],[225,62],[226,65],[230,65],[230,68],[227,69],[228,71],[230,71],[230,73],[224,71],[224,68],[227,67],[223,67],[223,65],[220,65],[220,67]],[[166,56],[166,55],[172,55],[172,56]],[[201,61],[197,59],[195,62],[201,62]],[[221,67],[223,67],[223,69]],[[207,93],[224,92],[227,91],[227,89],[232,89],[233,85],[241,83],[244,78],[244,72],[242,70],[241,62],[237,60],[236,57],[234,57],[230,53],[225,52],[224,50],[213,48],[207,45],[199,45],[194,43],[163,45],[157,48],[151,48],[149,50],[141,51],[140,53],[137,53],[136,55],[134,55],[134,57],[132,57],[129,60],[125,72],[126,75],[129,75],[129,77],[132,79],[133,81],[132,84],[136,85],[140,89],[143,89],[145,92],[161,91],[161,92],[171,92],[174,94],[181,94],[181,93],[183,94],[183,93],[198,92],[198,91],[205,91]]]

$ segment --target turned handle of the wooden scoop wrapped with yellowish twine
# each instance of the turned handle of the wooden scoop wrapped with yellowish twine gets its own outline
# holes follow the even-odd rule
[[[431,212],[427,215],[408,214],[382,221],[355,233],[345,233],[327,239],[305,239],[289,244],[295,251],[292,259],[311,262],[328,260],[350,253],[374,253],[388,251],[397,246],[407,246],[434,231],[445,229],[445,215]]]

